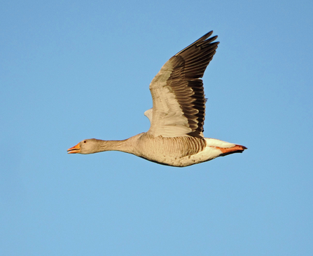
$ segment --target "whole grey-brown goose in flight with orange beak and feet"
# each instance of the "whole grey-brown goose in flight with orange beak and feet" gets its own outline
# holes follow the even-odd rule
[[[177,167],[242,153],[244,146],[203,136],[206,99],[201,78],[219,43],[214,42],[217,36],[209,38],[212,33],[176,53],[151,81],[153,108],[144,113],[151,122],[148,132],[127,140],[83,140],[68,153],[117,150]]]

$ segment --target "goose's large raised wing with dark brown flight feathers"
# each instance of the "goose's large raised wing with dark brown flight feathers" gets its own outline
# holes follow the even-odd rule
[[[219,43],[213,42],[217,36],[207,39],[212,33],[170,58],[151,81],[153,110],[149,134],[203,137],[206,100],[201,78]]]

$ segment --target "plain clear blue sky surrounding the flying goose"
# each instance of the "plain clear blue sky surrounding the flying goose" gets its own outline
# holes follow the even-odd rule
[[[0,255],[312,255],[313,2],[2,1]],[[149,128],[148,85],[214,30],[187,168],[68,155]]]

